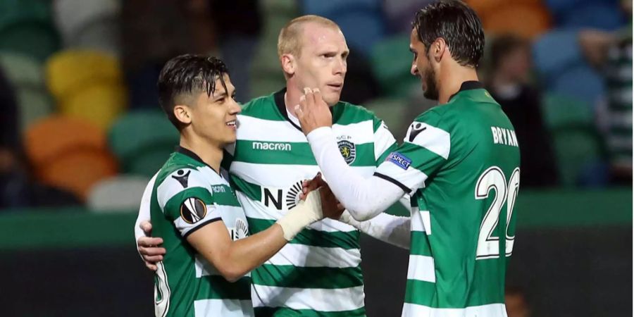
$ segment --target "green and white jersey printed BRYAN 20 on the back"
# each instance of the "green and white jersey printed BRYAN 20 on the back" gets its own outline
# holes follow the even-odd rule
[[[414,195],[403,316],[506,316],[519,148],[513,125],[481,88],[465,82],[447,104],[418,116],[377,169]]]

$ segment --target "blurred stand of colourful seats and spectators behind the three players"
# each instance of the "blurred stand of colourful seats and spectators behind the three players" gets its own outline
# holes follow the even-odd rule
[[[285,86],[287,21],[322,15],[352,53],[342,100],[397,139],[434,106],[410,75],[411,18],[430,0],[0,0],[0,211],[136,209],[178,144],[156,79],[178,54],[220,56],[237,98]],[[522,187],[631,185],[631,0],[471,0],[480,80],[514,123]]]

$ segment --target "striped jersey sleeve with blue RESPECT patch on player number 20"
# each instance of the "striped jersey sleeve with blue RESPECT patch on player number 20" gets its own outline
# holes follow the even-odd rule
[[[409,126],[403,144],[378,166],[375,176],[414,194],[449,159],[451,135],[442,116],[428,111]]]

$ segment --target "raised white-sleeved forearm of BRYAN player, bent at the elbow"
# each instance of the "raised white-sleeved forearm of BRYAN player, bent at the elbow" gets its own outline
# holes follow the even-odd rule
[[[402,189],[391,182],[363,178],[349,167],[330,128],[318,128],[306,137],[328,186],[354,219],[373,218],[403,196]]]

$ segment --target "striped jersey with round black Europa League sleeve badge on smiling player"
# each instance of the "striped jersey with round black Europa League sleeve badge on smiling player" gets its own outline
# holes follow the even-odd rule
[[[152,232],[167,250],[154,277],[156,316],[253,316],[251,277],[228,282],[187,243],[189,234],[218,220],[232,240],[249,234],[225,179],[192,151],[179,148],[156,175],[150,214]]]

